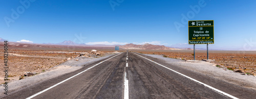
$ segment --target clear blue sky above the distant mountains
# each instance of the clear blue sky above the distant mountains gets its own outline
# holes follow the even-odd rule
[[[256,1],[253,0],[0,2],[0,37],[9,41],[71,40],[86,44],[152,43],[193,47],[187,44],[188,25],[186,19],[186,23],[182,23],[184,15],[189,20],[214,20],[215,44],[210,44],[211,48],[256,50]],[[194,11],[190,6],[200,10]],[[190,12],[194,14],[188,16]],[[177,23],[182,27],[177,28]]]

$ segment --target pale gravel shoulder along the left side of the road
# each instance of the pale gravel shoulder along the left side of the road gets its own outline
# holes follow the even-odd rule
[[[38,75],[26,77],[25,79],[22,79],[22,80],[8,82],[8,94],[17,92],[19,90],[33,86],[40,82],[44,82],[51,78],[56,78],[58,76],[65,75],[66,73],[81,69],[83,65],[86,65],[95,61],[99,61],[105,58],[109,58],[111,55],[113,54],[105,54],[103,57],[97,57],[97,58],[77,57],[72,60],[68,60],[60,65],[54,66],[45,72],[39,73]],[[76,61],[76,59],[78,59],[78,61]],[[3,84],[0,86],[0,89],[4,89]],[[0,92],[4,93],[4,90],[1,90]],[[3,95],[4,94],[1,94],[0,97],[2,97]]]

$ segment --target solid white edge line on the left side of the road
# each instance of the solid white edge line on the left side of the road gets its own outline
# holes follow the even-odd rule
[[[121,53],[120,53],[120,54],[121,54]],[[118,54],[118,55],[120,55],[120,54]],[[113,57],[116,57],[116,56],[118,56],[118,55],[115,55],[115,56],[113,56]],[[113,57],[111,57],[111,58],[113,58]],[[109,59],[111,59],[111,58],[109,58]],[[102,61],[102,62],[100,62],[100,63],[103,63],[103,62],[105,62],[105,61],[107,61],[107,60],[109,60],[109,59],[106,59],[106,60],[104,60],[104,61]],[[36,95],[41,94],[42,92],[45,92],[45,91],[47,91],[47,90],[49,90],[49,89],[51,89],[51,88],[53,88],[53,87],[55,87],[55,86],[57,86],[57,85],[63,83],[63,82],[66,82],[66,81],[68,81],[68,80],[70,80],[70,79],[72,79],[72,78],[74,78],[74,77],[80,75],[82,72],[85,72],[85,71],[87,71],[87,70],[89,70],[89,69],[91,69],[91,68],[93,68],[93,67],[99,65],[100,63],[98,63],[98,64],[96,64],[96,65],[94,65],[94,66],[92,66],[92,67],[89,67],[89,68],[87,68],[86,70],[83,70],[83,71],[77,73],[76,75],[74,75],[74,76],[72,76],[72,77],[70,77],[70,78],[68,78],[68,79],[66,79],[66,80],[63,80],[63,81],[61,81],[61,82],[59,82],[59,83],[57,83],[57,84],[55,84],[55,85],[53,85],[53,86],[51,86],[51,87],[45,89],[45,90],[42,90],[42,91],[40,91],[40,92],[38,92],[38,93],[36,93],[36,94],[30,96],[30,97],[27,97],[26,99],[33,98],[33,97],[35,97]]]

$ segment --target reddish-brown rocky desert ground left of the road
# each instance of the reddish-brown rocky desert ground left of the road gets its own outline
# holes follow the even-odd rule
[[[3,47],[1,44],[0,47]],[[4,47],[3,47],[4,48]],[[0,49],[0,65],[4,66],[4,49]],[[8,79],[9,82],[25,78],[25,72],[38,74],[66,62],[68,58],[74,60],[81,53],[87,53],[84,58],[101,57],[105,53],[114,50],[100,49],[100,47],[80,47],[80,46],[64,46],[64,45],[45,45],[45,44],[26,44],[26,43],[9,43],[8,44]],[[97,50],[100,55],[91,53],[91,50]],[[73,58],[72,58],[73,57]],[[80,56],[79,56],[80,57]],[[4,71],[4,68],[0,68]],[[0,72],[0,84],[4,81],[4,72]]]

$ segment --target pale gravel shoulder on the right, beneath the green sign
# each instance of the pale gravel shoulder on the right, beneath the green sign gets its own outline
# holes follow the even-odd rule
[[[256,90],[256,77],[250,75],[241,75],[240,73],[233,72],[232,70],[219,68],[214,63],[209,62],[186,62],[181,59],[165,58],[162,55],[149,55],[143,54],[165,61],[168,64],[178,65],[182,68],[202,73],[203,75],[214,77],[216,79],[239,85],[245,88]]]

